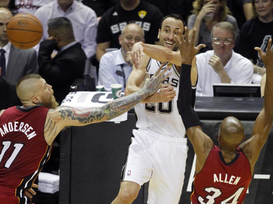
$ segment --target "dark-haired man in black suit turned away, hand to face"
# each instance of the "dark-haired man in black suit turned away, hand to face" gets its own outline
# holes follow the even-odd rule
[[[83,78],[86,56],[74,38],[72,24],[65,17],[48,20],[49,38],[40,44],[39,74],[52,85],[56,101],[61,104],[72,82]],[[57,55],[51,59],[53,50]]]

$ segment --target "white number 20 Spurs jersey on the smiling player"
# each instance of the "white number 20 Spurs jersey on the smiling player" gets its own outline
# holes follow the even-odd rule
[[[152,77],[161,63],[157,60],[150,58],[147,65],[147,72]],[[135,112],[137,116],[136,127],[144,130],[152,130],[158,134],[184,138],[185,127],[183,125],[181,116],[177,109],[177,98],[178,98],[178,87],[179,87],[179,71],[175,64],[167,63],[163,66],[162,70],[168,69],[165,74],[171,72],[163,83],[172,82],[172,86],[176,91],[176,96],[169,102],[166,103],[139,103],[135,106]],[[196,86],[192,87],[193,97],[195,103],[195,90]],[[159,91],[158,91],[159,92]]]

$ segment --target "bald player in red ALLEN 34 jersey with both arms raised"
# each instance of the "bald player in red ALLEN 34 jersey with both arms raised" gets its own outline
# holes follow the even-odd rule
[[[254,123],[251,138],[242,143],[245,138],[242,123],[235,117],[227,117],[220,125],[217,138],[219,144],[216,146],[202,131],[198,116],[191,107],[190,73],[196,52],[193,46],[194,38],[188,43],[188,32],[185,32],[185,38],[185,42],[177,38],[182,58],[177,106],[196,154],[191,202],[241,204],[252,179],[254,165],[273,122],[272,39],[268,41],[266,53],[260,48],[255,48],[266,65],[267,78],[264,107]]]

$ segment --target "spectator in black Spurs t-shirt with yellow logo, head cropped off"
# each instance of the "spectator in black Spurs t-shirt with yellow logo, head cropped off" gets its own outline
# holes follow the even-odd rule
[[[163,15],[159,9],[145,1],[120,0],[120,3],[102,15],[98,23],[97,60],[105,54],[105,49],[120,48],[118,36],[128,23],[136,23],[142,27],[147,43],[159,44],[157,33],[162,19]]]

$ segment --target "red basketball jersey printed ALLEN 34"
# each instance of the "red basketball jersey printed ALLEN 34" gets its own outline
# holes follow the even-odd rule
[[[249,160],[237,149],[228,164],[221,150],[214,145],[203,169],[195,174],[192,204],[241,204],[252,179]]]

